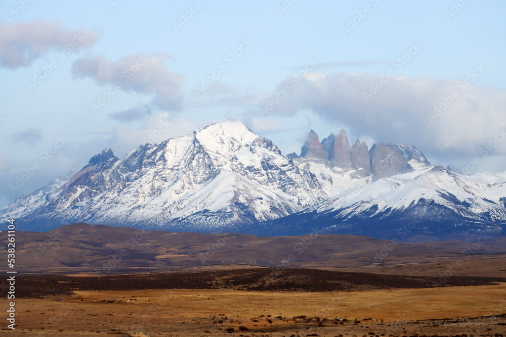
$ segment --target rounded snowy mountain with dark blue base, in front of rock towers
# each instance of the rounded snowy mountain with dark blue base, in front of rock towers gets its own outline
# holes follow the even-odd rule
[[[506,234],[506,173],[466,176],[440,166],[381,178],[291,216],[250,226],[257,234],[323,232],[405,240]]]

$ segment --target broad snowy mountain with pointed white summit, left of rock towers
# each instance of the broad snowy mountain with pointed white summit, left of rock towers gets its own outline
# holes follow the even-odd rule
[[[237,231],[328,198],[314,174],[233,119],[159,145],[140,146],[122,159],[106,149],[70,180],[39,194],[18,198],[0,216],[15,216],[24,230],[85,221]]]

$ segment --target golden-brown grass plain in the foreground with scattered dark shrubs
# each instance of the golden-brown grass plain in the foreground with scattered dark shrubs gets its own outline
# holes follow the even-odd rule
[[[116,301],[108,302],[112,300]],[[7,307],[6,299],[0,303]],[[505,326],[496,325],[506,322],[506,317],[482,316],[506,313],[506,283],[323,293],[77,291],[72,296],[16,300],[16,313],[16,330],[2,330],[2,335],[110,336],[128,335],[141,328],[151,337],[183,337],[231,335],[226,329],[234,328],[233,335],[251,337],[314,333],[361,337],[369,332],[385,336],[494,336],[506,330]],[[316,316],[322,321],[318,324],[315,320],[293,320],[294,316]],[[349,321],[334,324],[340,318]],[[443,321],[448,318],[451,320]],[[248,330],[239,331],[239,326]]]

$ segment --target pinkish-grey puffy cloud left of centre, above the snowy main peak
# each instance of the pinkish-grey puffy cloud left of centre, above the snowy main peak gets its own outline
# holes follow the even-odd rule
[[[73,63],[72,74],[75,78],[91,77],[98,84],[119,85],[126,92],[154,94],[152,103],[157,107],[180,110],[185,78],[164,65],[169,59],[172,57],[167,54],[131,54],[117,61],[103,55],[86,57]]]

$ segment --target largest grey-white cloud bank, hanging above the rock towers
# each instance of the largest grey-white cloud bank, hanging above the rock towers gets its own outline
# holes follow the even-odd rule
[[[403,76],[390,77],[382,85],[378,76],[312,72],[297,80],[289,78],[260,108],[282,115],[311,109],[376,141],[403,141],[433,156],[451,153],[473,158],[483,156],[486,146],[488,155],[506,154],[504,90],[461,80]],[[371,85],[381,88],[375,91]],[[288,93],[276,100],[283,88]]]

